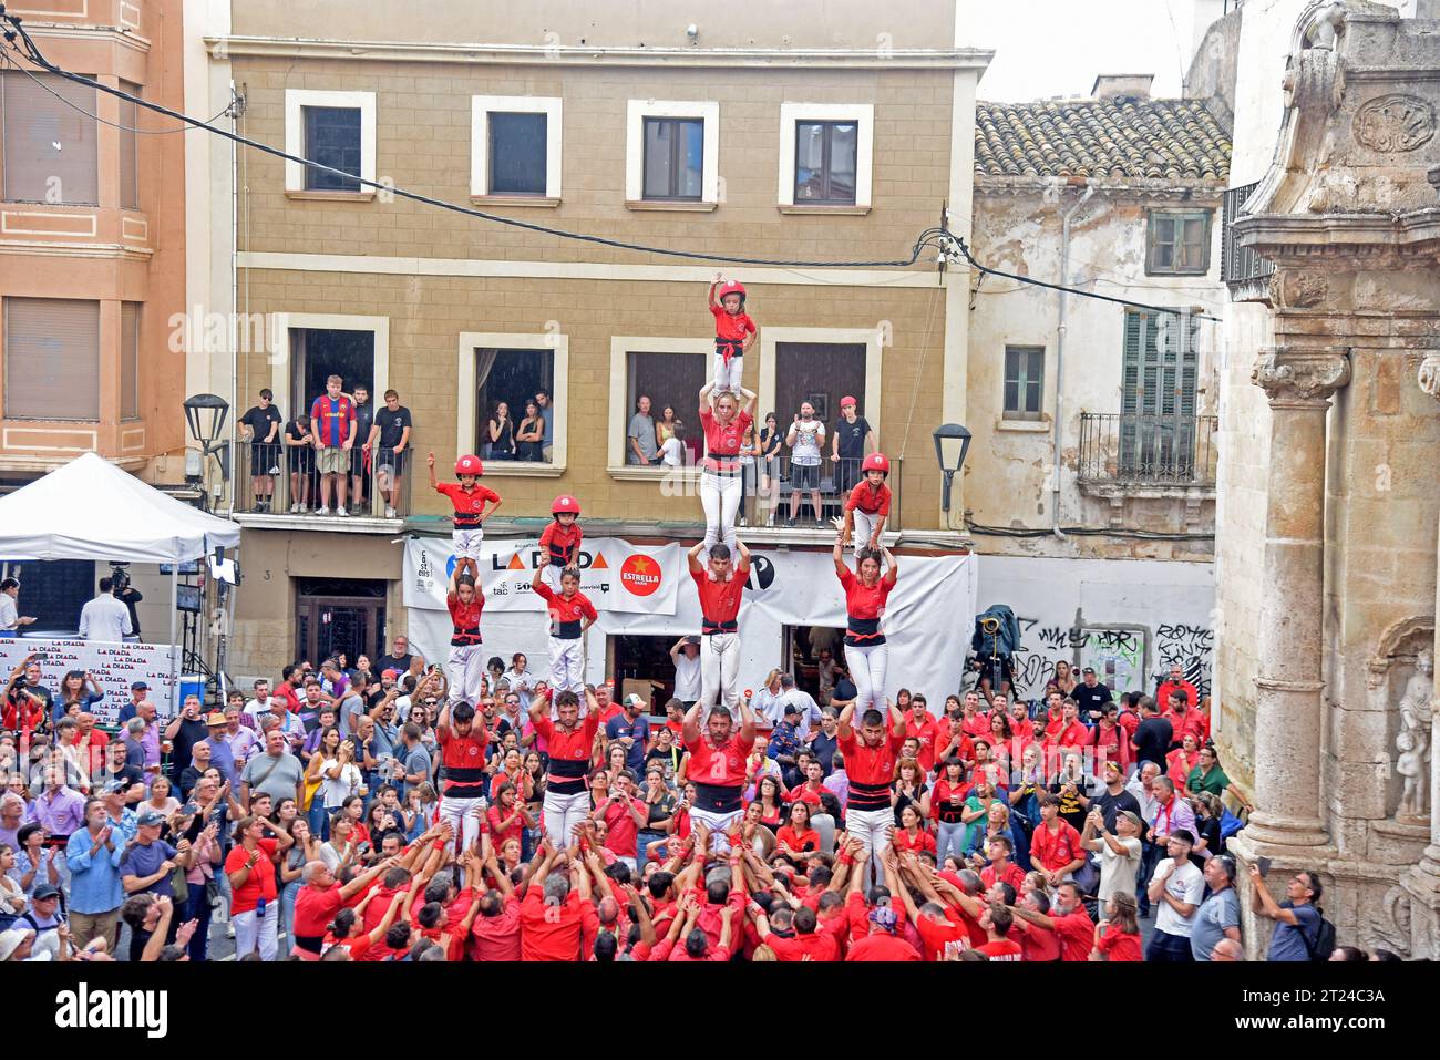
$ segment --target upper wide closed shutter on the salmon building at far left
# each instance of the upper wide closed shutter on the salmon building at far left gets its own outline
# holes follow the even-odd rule
[[[94,88],[53,73],[7,71],[0,73],[0,112],[7,202],[99,203],[96,122],[89,117],[95,114]]]

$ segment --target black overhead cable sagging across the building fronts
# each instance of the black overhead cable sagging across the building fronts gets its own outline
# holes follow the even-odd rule
[[[53,75],[60,76],[60,78],[65,78],[66,81],[72,81],[72,82],[84,85],[86,88],[94,88],[94,89],[98,89],[101,92],[107,92],[107,94],[109,94],[109,95],[112,95],[112,96],[115,96],[118,99],[125,99],[127,102],[135,104],[137,107],[144,107],[148,111],[154,111],[156,114],[163,114],[166,117],[174,118],[176,121],[184,122],[189,127],[203,128],[203,130],[206,130],[209,132],[213,132],[215,135],[225,137],[226,140],[230,140],[230,141],[233,141],[236,144],[240,144],[243,147],[251,147],[251,148],[253,148],[256,151],[262,151],[262,153],[274,156],[276,158],[282,158],[284,161],[291,161],[291,163],[295,163],[298,166],[304,166],[307,169],[318,170],[318,171],[323,171],[323,173],[331,173],[331,174],[334,174],[337,177],[341,177],[341,179],[344,179],[347,181],[354,181],[354,183],[360,184],[360,186],[364,186],[364,187],[372,187],[376,192],[382,192],[384,194],[399,196],[402,199],[409,199],[412,202],[418,202],[418,203],[422,203],[425,206],[433,206],[436,209],[448,210],[451,213],[459,213],[459,215],[464,215],[464,216],[468,216],[468,217],[475,217],[477,220],[488,220],[488,222],[492,222],[495,225],[505,225],[508,228],[517,228],[517,229],[523,229],[523,230],[527,230],[527,232],[539,232],[541,235],[556,236],[557,239],[572,239],[572,241],[577,241],[577,242],[595,243],[595,245],[599,245],[599,246],[609,246],[609,248],[618,249],[618,251],[635,251],[638,253],[655,253],[655,255],[661,255],[661,256],[667,256],[667,258],[684,258],[684,259],[691,259],[691,261],[721,262],[721,264],[726,264],[726,265],[757,265],[757,266],[789,268],[789,269],[796,269],[796,268],[851,268],[851,269],[854,269],[854,268],[907,268],[907,266],[914,265],[916,262],[919,262],[920,256],[924,253],[926,249],[935,249],[937,252],[937,255],[936,255],[937,256],[937,262],[942,266],[946,262],[949,262],[949,261],[956,261],[956,259],[962,258],[963,261],[966,261],[971,265],[971,268],[976,269],[981,274],[986,274],[986,275],[992,275],[992,277],[1004,277],[1007,279],[1014,279],[1014,281],[1017,281],[1020,284],[1027,284],[1027,285],[1031,285],[1031,287],[1043,287],[1043,288],[1047,288],[1047,289],[1051,289],[1051,291],[1064,291],[1064,292],[1073,294],[1073,295],[1076,295],[1079,298],[1096,298],[1099,301],[1113,302],[1116,305],[1129,305],[1129,307],[1139,308],[1139,310],[1149,310],[1152,313],[1166,313],[1166,314],[1175,314],[1175,315],[1189,314],[1188,308],[1175,308],[1175,307],[1169,307],[1169,305],[1151,305],[1151,304],[1146,304],[1146,302],[1133,301],[1130,298],[1115,298],[1115,297],[1110,297],[1110,295],[1096,294],[1094,291],[1083,291],[1080,288],[1066,287],[1063,284],[1051,284],[1051,282],[1044,281],[1044,279],[1035,279],[1034,277],[1024,277],[1024,275],[1020,275],[1020,274],[1015,274],[1015,272],[1005,272],[1002,269],[989,268],[988,265],[982,265],[975,258],[975,255],[971,252],[971,248],[965,243],[965,239],[962,236],[956,236],[953,232],[950,232],[948,228],[943,228],[943,226],[927,228],[926,230],[923,230],[919,235],[919,238],[916,239],[914,246],[910,249],[910,256],[909,258],[888,259],[888,261],[785,261],[785,259],[778,259],[778,258],[744,258],[744,256],[739,256],[739,255],[707,253],[704,251],[687,251],[687,249],[677,249],[677,248],[668,248],[668,246],[648,246],[645,243],[629,243],[629,242],[625,242],[622,239],[611,239],[611,238],[606,238],[606,236],[590,235],[590,233],[586,233],[586,232],[570,232],[567,229],[550,228],[547,225],[539,225],[539,223],[528,222],[528,220],[520,220],[517,217],[505,217],[505,216],[498,215],[498,213],[488,213],[487,210],[477,210],[477,209],[474,209],[471,206],[461,206],[458,203],[445,202],[444,199],[435,199],[433,196],[420,194],[419,192],[410,192],[410,190],[399,187],[396,184],[389,184],[389,183],[382,183],[382,181],[376,181],[376,180],[369,180],[366,177],[359,177],[354,173],[348,173],[346,170],[340,170],[340,169],[336,169],[333,166],[325,166],[324,163],[317,163],[317,161],[312,161],[312,160],[305,158],[302,156],[289,154],[288,151],[282,151],[281,148],[272,147],[271,144],[264,144],[264,143],[261,143],[258,140],[252,140],[249,137],[240,135],[240,134],[233,132],[230,130],[213,125],[212,122],[216,121],[216,118],[223,117],[226,112],[229,112],[230,105],[228,105],[223,111],[220,111],[220,114],[217,114],[216,118],[210,118],[209,121],[202,121],[200,118],[192,118],[190,115],[187,115],[187,114],[181,112],[181,111],[174,111],[174,109],[171,109],[168,107],[164,107],[163,104],[157,104],[157,102],[153,102],[150,99],[143,99],[143,98],[140,98],[137,95],[131,95],[130,92],[125,92],[124,89],[112,88],[109,85],[99,84],[99,82],[92,81],[89,78],[85,78],[85,76],[82,76],[79,73],[72,73],[71,71],[66,71],[66,69],[55,65],[53,62],[50,62],[49,59],[45,58],[45,55],[40,52],[39,46],[35,43],[35,40],[30,37],[30,35],[23,29],[22,19],[19,16],[16,16],[16,14],[9,14],[4,10],[4,4],[0,4],[0,20],[3,20],[4,23],[7,23],[7,29],[4,30],[3,36],[4,36],[4,40],[16,50],[16,53],[20,58],[23,58],[24,60],[33,63],[35,66],[39,66],[40,69],[43,69],[43,71],[46,71],[49,73],[53,73]],[[20,72],[29,73],[23,68],[20,69]],[[60,98],[63,99],[63,96],[60,96]],[[65,102],[69,104],[69,105],[72,105],[72,107],[75,107],[75,104],[71,104],[71,101],[65,101]],[[232,101],[232,105],[233,105],[233,101]],[[76,109],[81,109],[82,112],[89,114],[88,111],[84,111],[84,108],[78,108],[76,107]],[[98,118],[96,115],[89,115],[89,117],[94,117],[96,121],[104,121],[102,118]],[[114,124],[114,122],[105,122],[105,124]],[[128,128],[128,127],[125,127],[125,128]],[[135,130],[135,131],[137,132],[144,132],[144,131],[158,131],[158,130]],[[179,130],[163,130],[163,131],[179,131]],[[1218,317],[1214,317],[1214,315],[1210,315],[1210,314],[1202,314],[1202,313],[1195,313],[1195,314],[1189,314],[1189,315],[1192,318],[1197,318],[1197,320],[1220,320]]]

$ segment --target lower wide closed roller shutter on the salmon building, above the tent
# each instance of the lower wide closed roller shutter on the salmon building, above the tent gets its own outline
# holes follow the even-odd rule
[[[4,300],[7,419],[99,419],[99,302]]]

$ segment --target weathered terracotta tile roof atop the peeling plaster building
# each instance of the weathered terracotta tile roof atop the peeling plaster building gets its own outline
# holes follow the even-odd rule
[[[975,173],[1223,181],[1230,132],[1191,99],[975,104]]]

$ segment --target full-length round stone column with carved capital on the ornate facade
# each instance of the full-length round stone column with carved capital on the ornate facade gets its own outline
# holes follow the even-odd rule
[[[1318,678],[1325,575],[1325,413],[1349,382],[1344,351],[1263,353],[1251,380],[1270,398],[1260,673],[1256,675],[1251,845],[1329,843],[1322,818]],[[1280,853],[1280,851],[1273,851]]]

